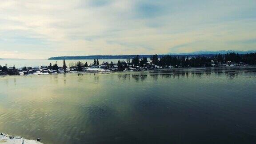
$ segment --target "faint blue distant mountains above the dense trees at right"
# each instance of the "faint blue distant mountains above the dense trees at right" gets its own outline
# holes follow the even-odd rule
[[[253,53],[256,52],[256,50],[250,50],[250,51],[233,51],[233,50],[228,50],[228,51],[196,51],[196,52],[188,52],[188,53],[168,53],[169,55],[215,55],[215,54],[226,54],[230,52],[235,52],[239,54],[246,54],[246,53]]]

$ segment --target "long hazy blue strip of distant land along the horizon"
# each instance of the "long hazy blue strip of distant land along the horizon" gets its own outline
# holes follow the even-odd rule
[[[197,52],[191,52],[191,53],[168,53],[168,55],[172,56],[188,56],[188,57],[196,57],[196,56],[205,56],[205,57],[211,57],[215,56],[216,54],[226,54],[226,53],[238,53],[238,54],[246,54],[246,53],[253,53],[256,52],[256,50],[251,51],[197,51]],[[160,54],[159,57],[163,57],[166,54]],[[50,57],[48,60],[94,60],[94,59],[128,59],[128,58],[134,58],[137,55],[92,55],[92,56],[56,56],[56,57]],[[139,58],[143,57],[152,57],[153,55],[138,55]]]

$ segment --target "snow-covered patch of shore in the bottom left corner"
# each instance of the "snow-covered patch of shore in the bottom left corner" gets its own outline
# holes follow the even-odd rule
[[[0,144],[43,144],[36,140],[27,140],[20,136],[10,136],[8,134],[0,134]]]

